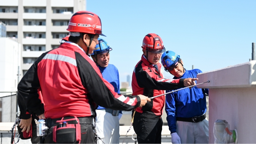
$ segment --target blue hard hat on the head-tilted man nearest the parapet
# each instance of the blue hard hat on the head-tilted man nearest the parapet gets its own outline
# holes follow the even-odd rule
[[[173,51],[166,51],[161,56],[161,62],[165,71],[174,69],[180,60],[180,56]]]

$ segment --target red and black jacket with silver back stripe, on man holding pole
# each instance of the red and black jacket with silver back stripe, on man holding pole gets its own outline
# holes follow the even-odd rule
[[[43,53],[18,84],[18,92],[29,113],[46,118],[96,116],[97,105],[113,110],[132,110],[138,96],[114,92],[100,70],[78,45],[66,42]],[[44,110],[38,99],[42,90]]]

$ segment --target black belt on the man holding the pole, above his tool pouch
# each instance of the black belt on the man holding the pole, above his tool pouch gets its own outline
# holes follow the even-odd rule
[[[66,117],[64,117],[63,120],[72,119],[72,118],[74,118],[74,116],[66,116]],[[53,126],[55,126],[56,121],[59,121],[59,120],[61,120],[61,119],[62,119],[62,117],[56,118],[56,119],[50,119],[50,118],[45,119],[45,122],[46,122],[45,125],[46,125],[48,128],[53,127]],[[79,120],[79,123],[80,123],[80,124],[83,123],[83,124],[91,124],[91,125],[94,125],[94,117],[78,117],[78,120]],[[70,121],[69,123],[70,123],[70,124],[73,124],[72,121]]]

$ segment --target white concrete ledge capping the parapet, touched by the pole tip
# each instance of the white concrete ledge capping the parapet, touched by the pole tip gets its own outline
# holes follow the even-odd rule
[[[210,81],[198,88],[256,87],[256,61],[200,73],[197,78],[197,83]]]

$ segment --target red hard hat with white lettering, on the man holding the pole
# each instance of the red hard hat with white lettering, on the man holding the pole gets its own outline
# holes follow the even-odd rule
[[[71,17],[67,30],[71,32],[103,35],[100,17],[89,11],[76,12]]]

